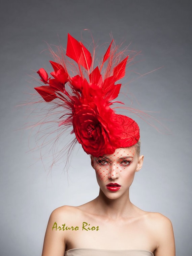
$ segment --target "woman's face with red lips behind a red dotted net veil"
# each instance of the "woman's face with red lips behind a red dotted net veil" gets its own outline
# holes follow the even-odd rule
[[[102,192],[115,199],[129,191],[136,171],[142,167],[143,156],[134,147],[117,148],[112,155],[91,157],[97,182]]]

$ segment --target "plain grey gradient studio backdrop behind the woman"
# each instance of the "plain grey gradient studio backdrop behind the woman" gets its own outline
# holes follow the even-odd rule
[[[28,74],[49,65],[49,54],[40,54],[45,42],[66,46],[68,32],[78,40],[82,33],[91,42],[85,28],[99,43],[110,42],[112,32],[117,43],[131,42],[131,50],[142,51],[137,59],[142,61],[134,67],[141,74],[163,66],[135,76],[127,87],[138,101],[133,98],[133,106],[159,112],[155,117],[170,130],[158,133],[135,117],[145,163],[136,173],[131,200],[169,217],[177,255],[191,255],[191,1],[3,0],[0,12],[0,255],[40,255],[52,210],[83,204],[98,194],[89,156],[81,147],[75,149],[68,176],[62,161],[48,174],[50,159],[44,159],[44,168],[40,149],[29,150],[35,146],[35,131],[21,130],[38,118],[15,107],[34,92]]]

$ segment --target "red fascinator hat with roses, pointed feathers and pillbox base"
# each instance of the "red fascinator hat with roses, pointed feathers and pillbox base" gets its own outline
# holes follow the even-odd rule
[[[116,54],[117,48],[111,50],[112,44],[101,65],[94,67],[96,58],[92,60],[89,50],[68,34],[66,55],[70,61],[50,61],[51,77],[43,68],[37,71],[45,85],[35,90],[46,102],[63,107],[59,126],[72,127],[71,133],[84,151],[95,157],[113,154],[116,148],[130,147],[139,140],[137,123],[111,107],[121,88],[116,82],[125,76],[129,61],[128,56],[122,59]]]

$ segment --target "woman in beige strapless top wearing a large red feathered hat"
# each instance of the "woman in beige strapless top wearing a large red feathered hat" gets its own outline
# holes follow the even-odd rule
[[[68,66],[74,71],[74,64],[67,66],[61,59],[51,62],[53,79],[44,69],[38,71],[46,86],[35,89],[45,101],[54,100],[63,108],[59,125],[73,126],[74,143],[77,140],[91,155],[100,187],[93,201],[52,212],[42,256],[175,255],[170,220],[142,211],[129,199],[129,188],[142,167],[143,156],[137,123],[111,108],[121,87],[115,83],[124,77],[128,60],[121,59],[123,54],[117,47],[111,50],[112,43],[100,68],[93,68],[90,52],[68,35],[66,55],[78,64],[79,75],[71,77]]]

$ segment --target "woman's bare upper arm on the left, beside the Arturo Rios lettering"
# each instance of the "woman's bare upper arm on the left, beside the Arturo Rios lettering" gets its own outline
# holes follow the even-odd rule
[[[49,218],[43,243],[42,256],[63,256],[65,253],[64,232],[53,228],[54,223],[60,223],[62,211],[60,208],[54,210]]]

